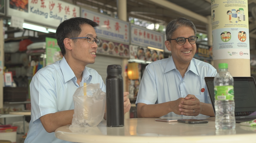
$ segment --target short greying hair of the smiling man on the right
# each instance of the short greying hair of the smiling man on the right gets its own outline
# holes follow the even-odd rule
[[[166,40],[172,39],[172,34],[181,26],[191,27],[196,35],[196,26],[187,18],[177,18],[169,22],[166,27]]]

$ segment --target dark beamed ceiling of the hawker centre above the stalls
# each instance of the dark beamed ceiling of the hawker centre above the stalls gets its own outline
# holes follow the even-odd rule
[[[117,0],[63,0],[94,9],[117,11]],[[122,0],[120,0],[122,1]],[[213,1],[213,0],[212,0]],[[207,16],[211,15],[211,0],[126,0],[127,18],[134,17],[167,25],[177,17],[189,18],[198,32],[207,33]],[[256,39],[256,0],[248,0],[250,35]],[[255,12],[254,12],[254,11]],[[253,14],[255,15],[253,17]]]

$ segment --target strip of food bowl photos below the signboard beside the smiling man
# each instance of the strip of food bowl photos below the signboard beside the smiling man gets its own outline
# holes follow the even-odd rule
[[[157,61],[164,59],[164,53],[147,47],[130,45],[130,58],[145,61]]]

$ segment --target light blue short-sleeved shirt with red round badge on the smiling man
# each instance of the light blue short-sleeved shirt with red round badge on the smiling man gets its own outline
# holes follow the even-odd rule
[[[211,103],[204,77],[215,76],[217,70],[204,61],[192,59],[182,78],[177,70],[172,56],[154,61],[145,68],[136,100],[138,103],[159,104],[195,95],[203,103]],[[201,89],[204,89],[201,90]],[[163,117],[175,117],[170,112]]]

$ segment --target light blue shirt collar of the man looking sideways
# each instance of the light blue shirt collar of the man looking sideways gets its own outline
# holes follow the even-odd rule
[[[69,80],[76,77],[75,73],[68,65],[68,62],[66,61],[65,57],[63,57],[62,60],[60,61],[60,69],[61,69],[61,72],[64,77],[64,82],[68,82]],[[89,80],[89,82],[90,82],[92,80],[92,75],[89,72],[89,70],[87,70],[86,67],[84,68],[82,76],[83,76],[82,82],[86,82],[87,80]],[[85,80],[85,81],[83,81],[83,80]]]

